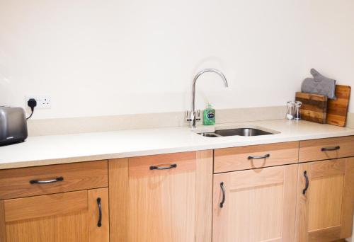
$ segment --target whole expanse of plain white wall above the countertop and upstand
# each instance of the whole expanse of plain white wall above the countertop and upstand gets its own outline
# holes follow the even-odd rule
[[[44,94],[52,109],[34,118],[182,111],[204,67],[230,87],[205,75],[199,108],[284,105],[311,67],[354,81],[353,11],[350,0],[0,0],[0,105]]]

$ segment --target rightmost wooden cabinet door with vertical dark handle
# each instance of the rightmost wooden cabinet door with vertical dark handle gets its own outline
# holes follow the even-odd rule
[[[302,163],[296,241],[348,238],[354,209],[354,158]]]

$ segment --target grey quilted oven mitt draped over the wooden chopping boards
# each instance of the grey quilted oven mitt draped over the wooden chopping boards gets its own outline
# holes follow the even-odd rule
[[[336,99],[336,80],[322,76],[319,71],[311,69],[314,78],[307,78],[302,81],[301,91],[303,93],[314,93]]]

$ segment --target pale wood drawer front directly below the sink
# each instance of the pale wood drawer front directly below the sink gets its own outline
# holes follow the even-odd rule
[[[214,173],[297,163],[299,142],[216,149]]]

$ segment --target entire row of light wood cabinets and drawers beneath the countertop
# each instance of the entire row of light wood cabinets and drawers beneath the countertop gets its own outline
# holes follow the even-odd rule
[[[338,241],[353,226],[353,144],[338,137],[2,170],[0,242]]]

